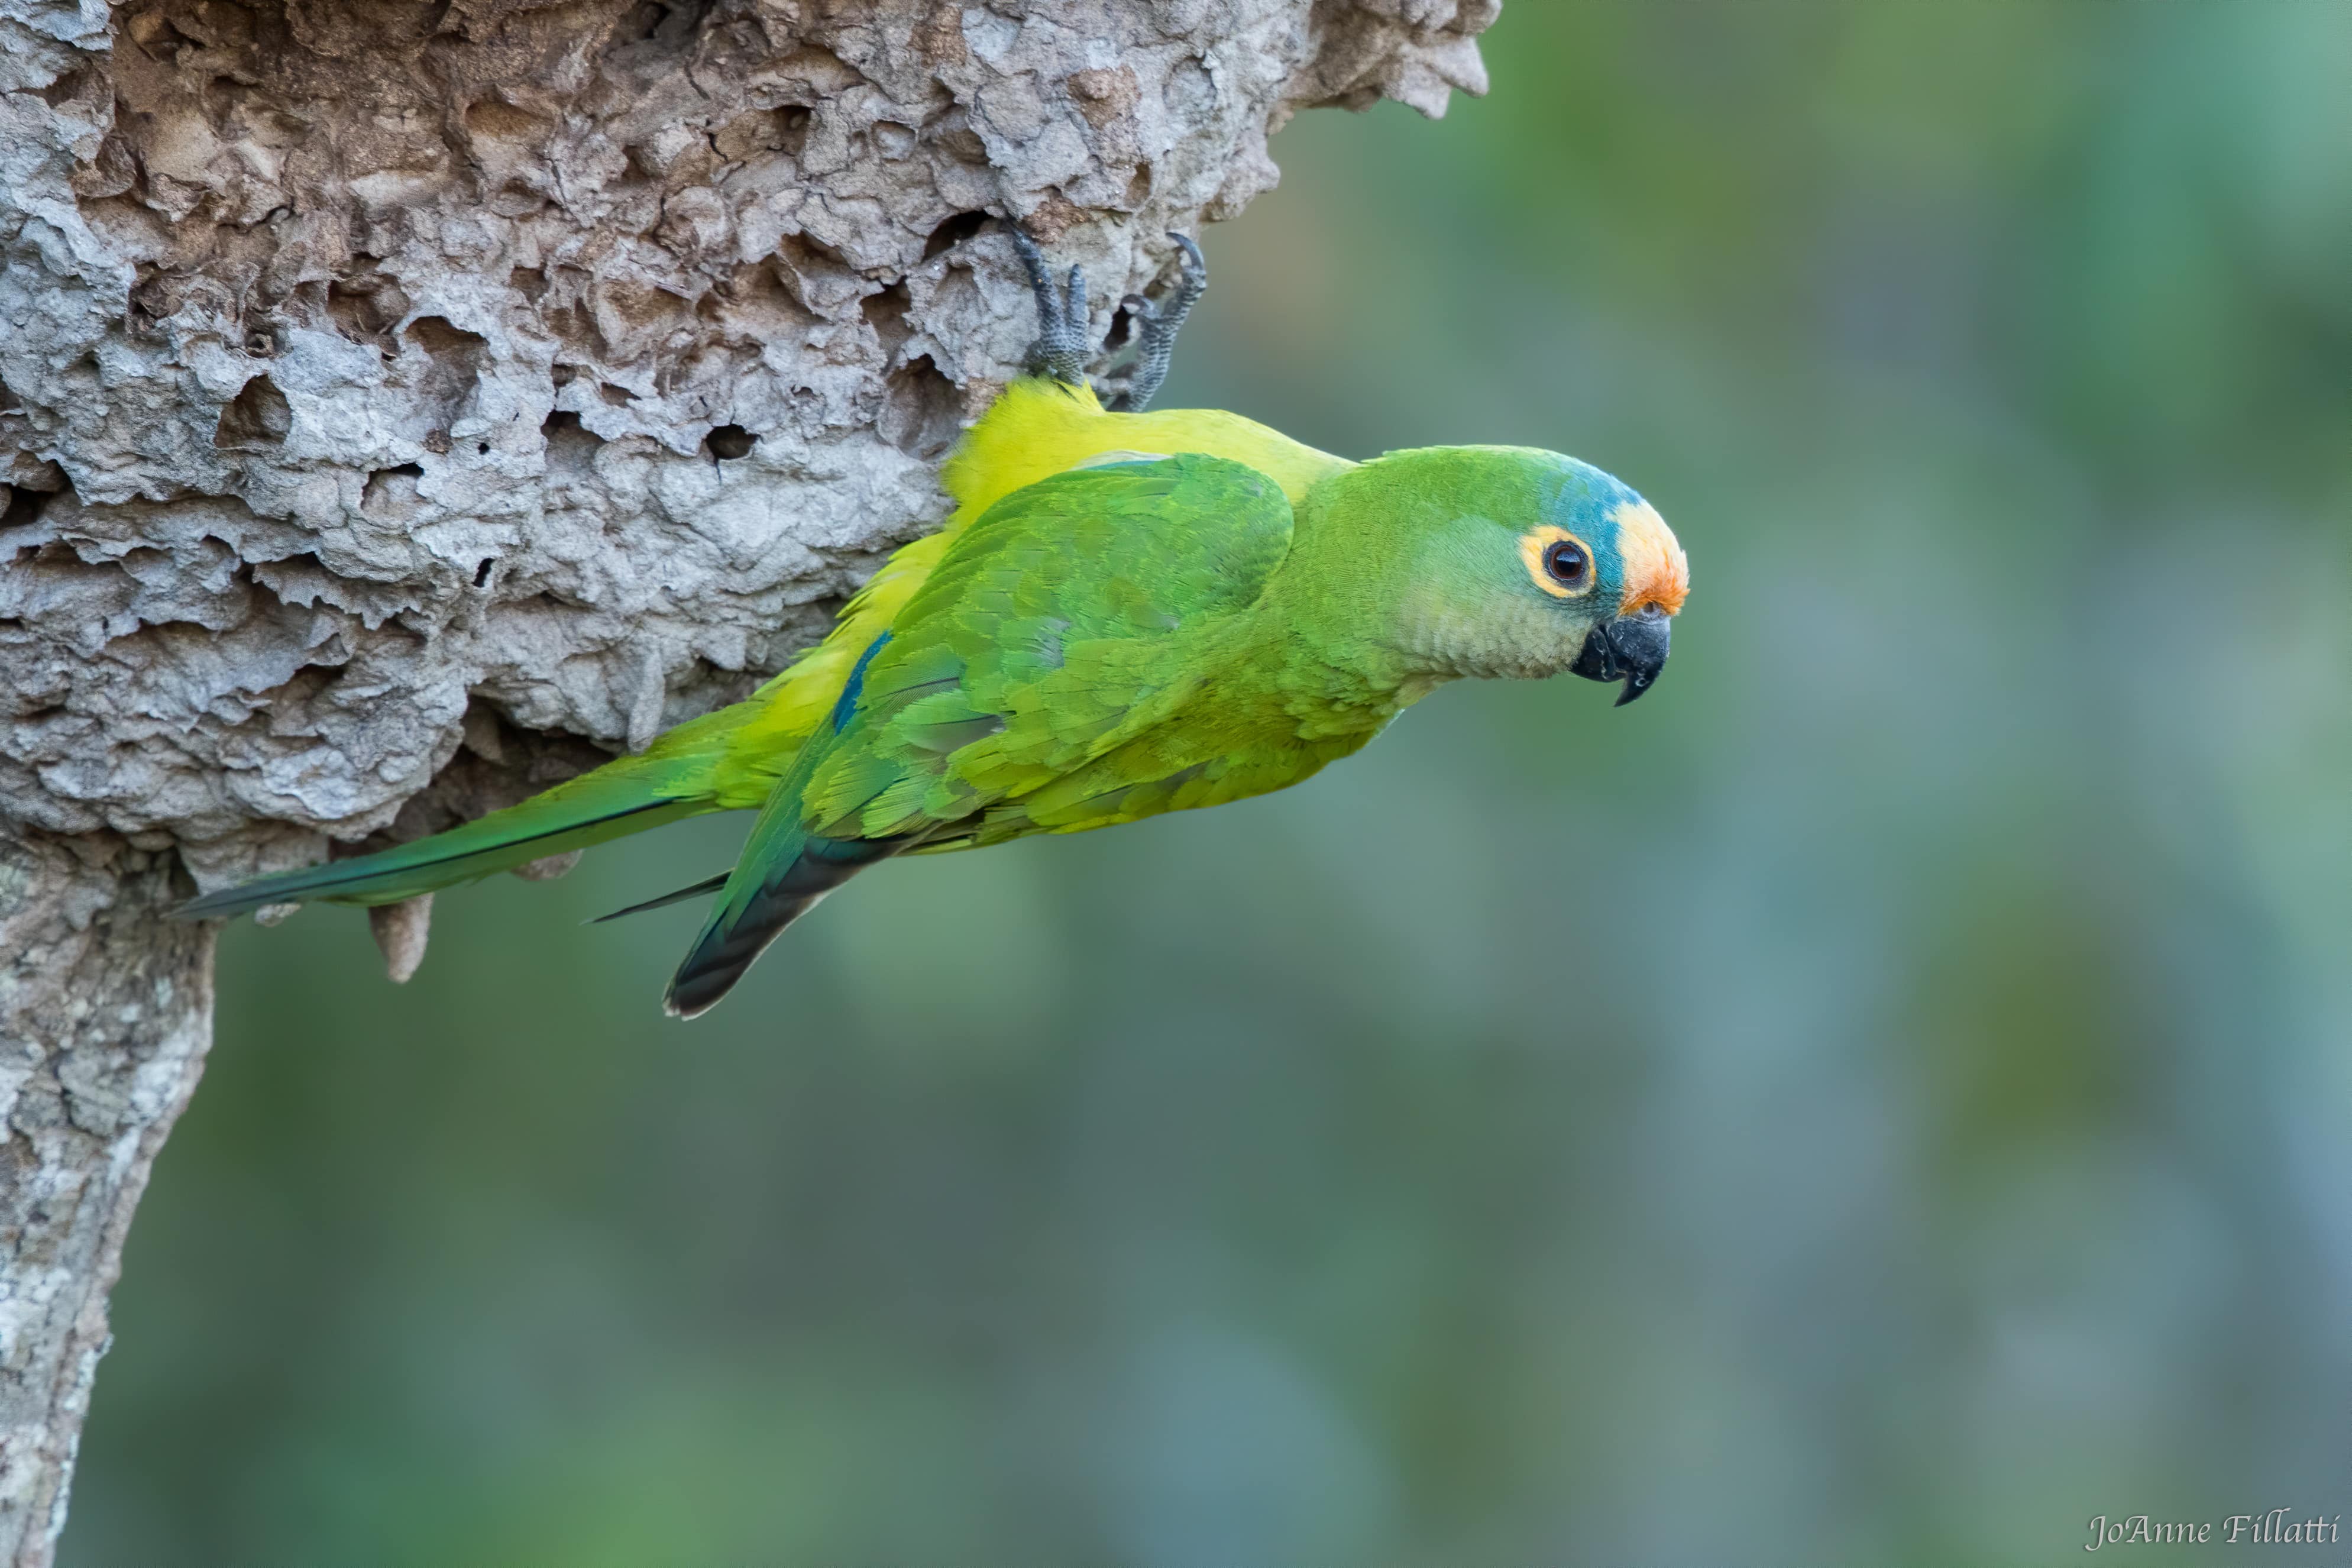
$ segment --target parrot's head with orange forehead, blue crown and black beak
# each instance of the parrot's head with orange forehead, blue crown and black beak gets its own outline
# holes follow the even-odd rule
[[[1642,496],[1534,447],[1392,451],[1341,475],[1392,531],[1385,642],[1432,675],[1583,675],[1635,701],[1665,668],[1691,567]],[[1315,529],[1317,534],[1322,529]],[[1369,585],[1367,585],[1369,588]]]

